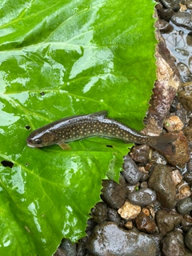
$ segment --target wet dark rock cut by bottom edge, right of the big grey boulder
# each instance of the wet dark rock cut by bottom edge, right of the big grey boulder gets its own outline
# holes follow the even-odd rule
[[[186,253],[182,233],[175,230],[166,234],[165,238],[162,238],[162,254],[169,256],[186,256]],[[190,254],[189,254],[190,256]]]

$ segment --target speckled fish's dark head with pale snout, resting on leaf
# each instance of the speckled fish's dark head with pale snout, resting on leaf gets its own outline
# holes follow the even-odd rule
[[[51,146],[58,143],[59,138],[51,131],[37,132],[34,130],[28,138],[26,138],[27,146],[43,147]]]

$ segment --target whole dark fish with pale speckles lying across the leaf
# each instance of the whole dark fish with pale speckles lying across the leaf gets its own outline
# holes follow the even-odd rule
[[[31,147],[43,147],[58,144],[63,150],[70,150],[66,142],[73,142],[93,136],[119,138],[123,142],[147,144],[165,154],[174,154],[174,142],[178,137],[171,134],[162,136],[145,136],[131,130],[114,119],[106,118],[107,111],[94,114],[77,115],[62,118],[34,130],[26,139]]]

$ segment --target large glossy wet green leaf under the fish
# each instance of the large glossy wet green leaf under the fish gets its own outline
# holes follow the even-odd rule
[[[85,234],[102,179],[118,181],[131,145],[39,150],[26,137],[98,110],[140,130],[155,79],[153,11],[150,0],[0,2],[1,255],[51,255],[62,237]]]

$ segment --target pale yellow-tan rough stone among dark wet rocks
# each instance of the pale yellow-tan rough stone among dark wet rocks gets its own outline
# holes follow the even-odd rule
[[[140,206],[134,206],[130,202],[126,201],[124,205],[118,209],[118,214],[120,214],[122,218],[130,220],[136,218],[141,210]]]

